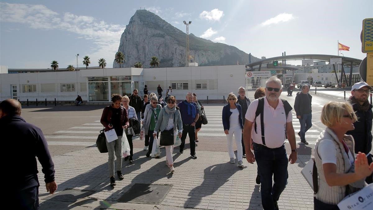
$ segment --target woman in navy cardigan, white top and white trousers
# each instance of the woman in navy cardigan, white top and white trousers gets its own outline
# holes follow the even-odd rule
[[[236,104],[237,97],[232,92],[228,94],[227,101],[229,104],[223,107],[223,127],[224,133],[227,135],[228,142],[228,154],[231,158],[230,163],[235,163],[234,152],[233,152],[233,135],[236,140],[237,146],[237,160],[238,167],[244,167],[242,164],[242,144],[241,136],[242,129],[244,126],[242,124],[242,109],[241,105]]]

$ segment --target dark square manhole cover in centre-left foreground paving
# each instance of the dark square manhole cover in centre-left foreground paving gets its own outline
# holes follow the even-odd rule
[[[160,204],[171,188],[172,185],[134,184],[118,202]]]

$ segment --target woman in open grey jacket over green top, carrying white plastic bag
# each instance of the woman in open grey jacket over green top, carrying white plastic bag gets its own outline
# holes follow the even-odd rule
[[[153,148],[153,132],[156,127],[158,120],[159,112],[162,109],[162,106],[157,103],[157,96],[151,96],[150,104],[146,105],[144,112],[144,120],[142,121],[141,135],[145,135],[145,145],[149,145],[149,150],[146,154],[146,157],[150,157],[151,149]],[[142,136],[141,136],[142,138]],[[150,138],[150,139],[149,139]]]

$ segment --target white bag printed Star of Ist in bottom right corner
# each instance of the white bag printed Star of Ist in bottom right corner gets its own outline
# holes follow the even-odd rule
[[[365,186],[360,191],[354,194],[347,195],[341,202],[338,203],[340,210],[368,210],[373,209],[373,183]]]

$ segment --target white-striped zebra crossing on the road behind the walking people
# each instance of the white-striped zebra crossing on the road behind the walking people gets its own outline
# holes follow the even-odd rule
[[[207,137],[225,138],[226,135],[222,123],[222,109],[223,105],[205,105],[204,106],[208,124],[202,125],[201,130],[198,132],[198,139],[203,140]],[[297,133],[300,131],[299,120],[293,113],[293,126],[295,131],[295,138],[297,143],[300,138]],[[70,145],[70,146],[93,146],[97,139],[97,135],[103,126],[100,120],[94,120],[84,123],[79,126],[69,127],[68,129],[58,130],[50,135],[45,135],[49,145]],[[308,143],[314,144],[317,137],[319,137],[321,130],[311,127],[307,131],[305,138]]]

